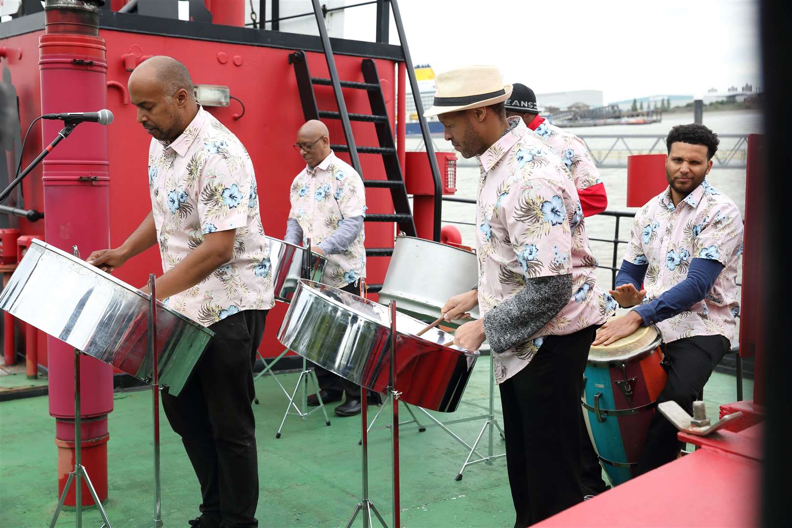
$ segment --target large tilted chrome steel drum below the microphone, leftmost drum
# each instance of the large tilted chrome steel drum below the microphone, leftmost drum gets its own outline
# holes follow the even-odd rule
[[[176,396],[215,334],[157,304],[159,383]],[[40,240],[0,294],[2,310],[147,383],[149,306],[149,295]]]

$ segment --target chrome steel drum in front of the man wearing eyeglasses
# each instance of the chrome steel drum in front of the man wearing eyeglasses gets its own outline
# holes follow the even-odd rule
[[[272,264],[272,284],[275,287],[275,300],[291,302],[297,283],[302,277],[303,259],[307,249],[289,244],[277,238],[267,237],[269,260]],[[317,253],[310,253],[310,279],[322,282],[327,259]]]

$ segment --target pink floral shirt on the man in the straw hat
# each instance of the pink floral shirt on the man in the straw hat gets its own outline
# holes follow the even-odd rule
[[[512,117],[510,124],[520,118]],[[527,279],[572,274],[566,306],[523,344],[493,352],[502,383],[533,359],[543,336],[601,324],[616,310],[596,287],[596,259],[577,190],[563,161],[520,120],[478,158],[478,303],[482,316],[527,287]]]

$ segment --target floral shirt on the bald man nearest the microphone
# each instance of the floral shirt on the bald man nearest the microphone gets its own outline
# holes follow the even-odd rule
[[[253,163],[237,137],[199,108],[169,145],[151,139],[148,173],[163,271],[201,245],[204,234],[236,230],[233,259],[169,297],[168,306],[203,325],[275,306]]]

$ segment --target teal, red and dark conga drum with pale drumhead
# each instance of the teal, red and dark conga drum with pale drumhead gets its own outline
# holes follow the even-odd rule
[[[661,334],[642,326],[588,354],[581,404],[588,435],[613,484],[634,477],[646,431],[667,379]]]

